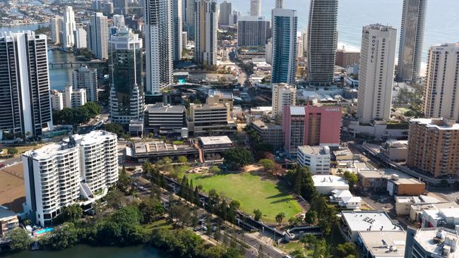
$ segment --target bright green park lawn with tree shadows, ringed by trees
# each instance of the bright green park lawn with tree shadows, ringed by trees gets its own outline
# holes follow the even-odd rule
[[[202,185],[208,192],[215,189],[217,193],[241,203],[240,209],[254,216],[254,209],[260,209],[261,220],[275,223],[275,216],[285,213],[283,222],[299,214],[302,209],[297,201],[284,188],[251,173],[200,175],[188,174],[193,185]]]

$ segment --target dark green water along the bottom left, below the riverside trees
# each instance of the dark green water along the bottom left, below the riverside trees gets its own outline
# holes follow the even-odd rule
[[[177,258],[177,255],[168,254],[165,251],[153,247],[90,247],[77,245],[61,251],[25,251],[17,254],[1,256],[4,258]]]

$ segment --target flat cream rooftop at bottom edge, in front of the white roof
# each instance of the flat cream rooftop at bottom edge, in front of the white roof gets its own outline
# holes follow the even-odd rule
[[[362,231],[359,238],[372,257],[404,257],[405,231]]]

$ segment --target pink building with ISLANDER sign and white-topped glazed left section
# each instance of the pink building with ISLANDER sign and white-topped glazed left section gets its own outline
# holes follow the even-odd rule
[[[297,154],[298,146],[338,146],[341,108],[338,106],[284,106],[284,149]]]

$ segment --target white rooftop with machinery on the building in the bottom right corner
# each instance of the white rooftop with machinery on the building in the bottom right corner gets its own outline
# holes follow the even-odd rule
[[[458,234],[448,228],[419,228],[415,235],[424,250],[445,258],[459,258],[458,239]]]

